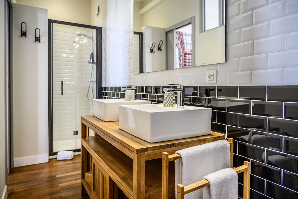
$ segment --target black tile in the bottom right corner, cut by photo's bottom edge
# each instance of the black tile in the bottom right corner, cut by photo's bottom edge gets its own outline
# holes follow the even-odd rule
[[[266,195],[271,198],[297,199],[298,193],[266,181]]]

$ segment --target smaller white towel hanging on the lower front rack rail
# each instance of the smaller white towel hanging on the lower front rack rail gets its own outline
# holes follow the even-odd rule
[[[238,175],[232,168],[204,176],[210,183],[203,189],[203,199],[238,199]]]

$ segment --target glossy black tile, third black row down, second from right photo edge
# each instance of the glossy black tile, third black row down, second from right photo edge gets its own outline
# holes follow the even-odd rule
[[[249,128],[257,131],[266,131],[267,119],[266,117],[239,115],[239,127]]]

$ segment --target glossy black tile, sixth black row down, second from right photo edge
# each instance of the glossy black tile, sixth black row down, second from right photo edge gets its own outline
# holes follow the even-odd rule
[[[267,166],[265,164],[258,163],[252,160],[251,166],[252,174],[269,180],[271,182],[281,184],[281,170],[273,168],[271,166]]]

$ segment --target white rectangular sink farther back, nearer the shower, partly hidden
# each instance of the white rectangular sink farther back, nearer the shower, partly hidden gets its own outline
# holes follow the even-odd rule
[[[124,99],[92,100],[93,116],[105,122],[118,121],[118,106],[130,104],[151,104],[151,101],[124,101]]]

